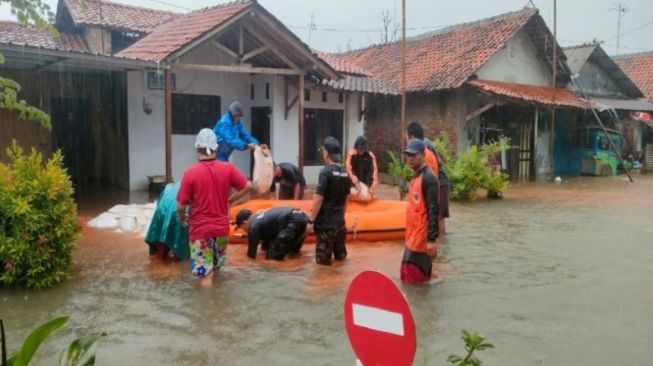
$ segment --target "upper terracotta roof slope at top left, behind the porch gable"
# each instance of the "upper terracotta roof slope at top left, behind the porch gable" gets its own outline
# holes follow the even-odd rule
[[[149,33],[155,27],[180,16],[163,10],[116,4],[106,0],[63,0],[75,25]]]

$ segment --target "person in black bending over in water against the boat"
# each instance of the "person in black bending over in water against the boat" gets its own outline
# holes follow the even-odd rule
[[[247,256],[256,258],[260,242],[267,250],[266,258],[283,260],[288,254],[299,254],[304,239],[308,215],[291,207],[275,207],[252,214],[243,209],[236,215],[236,226],[247,231]]]

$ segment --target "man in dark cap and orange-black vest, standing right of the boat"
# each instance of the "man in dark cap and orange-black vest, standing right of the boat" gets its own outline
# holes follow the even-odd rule
[[[406,162],[415,171],[408,190],[406,249],[401,261],[401,280],[423,283],[431,279],[431,255],[437,255],[438,178],[426,164],[423,140],[408,142]]]

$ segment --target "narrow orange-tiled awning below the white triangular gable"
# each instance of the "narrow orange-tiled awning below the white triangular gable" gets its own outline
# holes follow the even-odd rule
[[[586,108],[587,104],[574,93],[562,88],[548,88],[526,84],[505,83],[490,80],[472,80],[468,84],[485,92],[504,97],[525,100],[537,104],[574,108]]]

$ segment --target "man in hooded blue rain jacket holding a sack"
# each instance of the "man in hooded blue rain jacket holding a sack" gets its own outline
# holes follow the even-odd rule
[[[231,103],[222,118],[215,124],[213,132],[218,139],[217,159],[229,161],[229,156],[236,150],[252,150],[259,145],[242,124],[243,106],[236,101]]]

